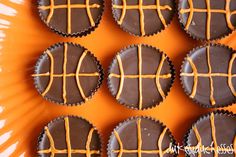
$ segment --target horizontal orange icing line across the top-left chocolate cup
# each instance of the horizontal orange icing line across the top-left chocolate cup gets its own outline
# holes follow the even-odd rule
[[[67,5],[55,5],[53,8],[54,9],[66,9],[68,6]],[[50,6],[40,6],[38,7],[39,9],[41,10],[48,10],[50,9]],[[78,9],[82,9],[82,8],[86,8],[86,5],[85,4],[72,4],[70,6],[70,8],[78,8]],[[92,4],[92,5],[89,5],[89,8],[90,9],[93,9],[93,8],[100,8],[100,5],[99,4]]]

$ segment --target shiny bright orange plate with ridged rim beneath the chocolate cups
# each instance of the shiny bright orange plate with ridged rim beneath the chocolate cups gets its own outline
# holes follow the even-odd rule
[[[108,138],[121,121],[137,115],[151,116],[163,122],[178,143],[199,116],[213,109],[204,109],[186,96],[179,80],[184,57],[200,42],[191,39],[182,29],[177,15],[161,33],[151,37],[135,37],[122,31],[112,17],[111,0],[105,0],[100,25],[82,38],[64,38],[53,33],[40,20],[37,0],[4,0],[0,2],[0,156],[32,157],[37,153],[37,138],[44,126],[63,115],[88,119],[102,134],[106,157]],[[135,111],[117,103],[111,96],[106,79],[94,97],[81,106],[67,107],[48,102],[34,87],[32,74],[38,57],[58,42],[74,42],[91,50],[104,71],[116,53],[131,44],[148,44],[165,52],[176,69],[176,79],[165,101],[145,111]],[[236,49],[236,32],[217,41]],[[107,74],[105,75],[107,77]],[[236,113],[236,106],[224,108]],[[184,157],[184,154],[180,154]]]

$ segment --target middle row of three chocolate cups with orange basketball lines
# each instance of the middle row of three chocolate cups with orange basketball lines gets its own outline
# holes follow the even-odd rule
[[[224,45],[193,49],[180,72],[185,93],[203,107],[226,107],[236,102],[236,52]],[[59,43],[38,59],[35,87],[47,100],[63,105],[88,101],[104,78],[97,58],[86,48]],[[150,109],[168,96],[175,79],[169,57],[155,47],[139,44],[122,49],[108,70],[108,88],[120,104]]]

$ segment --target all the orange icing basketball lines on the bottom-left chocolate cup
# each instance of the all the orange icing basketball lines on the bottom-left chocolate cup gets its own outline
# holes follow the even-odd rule
[[[93,154],[100,154],[99,150],[90,150],[90,144],[91,144],[91,140],[92,140],[92,133],[94,131],[94,128],[91,128],[91,130],[89,131],[88,137],[87,137],[87,141],[86,141],[86,149],[72,149],[71,148],[71,140],[70,140],[70,124],[69,124],[69,118],[65,117],[64,118],[64,126],[65,126],[65,132],[66,132],[66,146],[67,149],[56,149],[55,148],[55,142],[53,140],[53,137],[48,129],[48,127],[45,127],[45,133],[46,136],[48,137],[49,140],[49,144],[50,144],[50,148],[49,149],[45,149],[45,150],[39,150],[38,153],[39,154],[50,154],[50,157],[54,157],[55,154],[67,154],[67,157],[71,157],[72,154],[85,154],[86,157],[90,157]]]

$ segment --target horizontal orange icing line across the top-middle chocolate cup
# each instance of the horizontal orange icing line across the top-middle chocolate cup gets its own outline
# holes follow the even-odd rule
[[[114,9],[123,9],[122,5],[113,5]],[[168,5],[164,5],[164,6],[159,6],[159,8],[161,10],[172,10],[172,8]],[[127,5],[126,9],[139,9],[139,5]],[[158,7],[156,5],[143,5],[142,9],[158,9]]]

